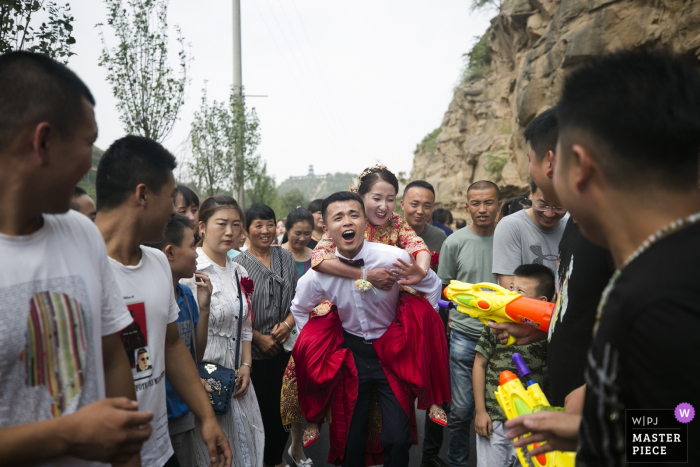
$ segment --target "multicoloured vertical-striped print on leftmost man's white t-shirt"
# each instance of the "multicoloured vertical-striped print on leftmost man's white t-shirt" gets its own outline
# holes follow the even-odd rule
[[[59,417],[83,387],[85,313],[61,293],[32,297],[27,315],[27,344],[20,354],[27,386],[45,386],[53,397],[51,415]]]

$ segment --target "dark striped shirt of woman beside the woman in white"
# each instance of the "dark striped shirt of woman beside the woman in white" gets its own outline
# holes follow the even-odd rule
[[[254,291],[250,299],[253,306],[253,330],[260,334],[270,334],[275,325],[287,317],[299,280],[292,253],[273,246],[270,247],[270,254],[270,269],[249,251],[244,251],[233,259],[248,271],[248,277],[253,280]],[[252,350],[254,360],[272,358],[263,354],[255,344],[252,344]],[[282,346],[279,351],[283,351]]]

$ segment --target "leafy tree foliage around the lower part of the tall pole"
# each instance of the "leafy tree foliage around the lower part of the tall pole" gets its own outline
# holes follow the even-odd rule
[[[256,154],[260,144],[259,125],[255,109],[246,109],[241,91],[231,90],[228,105],[217,101],[209,104],[206,90],[203,91],[190,133],[192,174],[203,190],[210,195],[227,191],[245,206],[246,187],[270,184],[265,178],[267,167],[263,167],[262,173],[260,157]],[[274,180],[271,183],[274,187]]]

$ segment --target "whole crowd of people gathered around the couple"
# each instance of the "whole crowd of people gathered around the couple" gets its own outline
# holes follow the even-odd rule
[[[625,410],[700,404],[686,58],[624,51],[572,71],[525,129],[528,195],[475,181],[468,225],[382,165],[282,219],[200,202],[175,157],[133,135],[105,151],[93,201],[77,183],[94,106],[64,65],[0,56],[3,465],[309,467],[328,423],[327,462],[407,466],[425,410],[425,467],[468,466],[472,424],[479,466],[518,465],[533,442],[531,456],[617,466]],[[554,302],[548,331],[439,307],[452,281]],[[494,392],[516,352],[563,411],[506,418]]]

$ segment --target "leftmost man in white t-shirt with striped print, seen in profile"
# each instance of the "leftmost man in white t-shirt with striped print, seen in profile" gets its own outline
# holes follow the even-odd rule
[[[132,319],[99,231],[68,211],[94,99],[28,52],[0,56],[0,90],[0,463],[138,464],[153,414],[137,411],[118,334]]]

